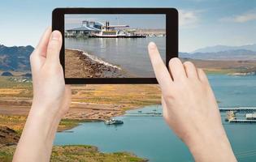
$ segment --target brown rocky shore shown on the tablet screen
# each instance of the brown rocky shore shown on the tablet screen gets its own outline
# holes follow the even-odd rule
[[[65,49],[66,78],[124,78],[126,73],[119,66],[103,62],[76,49]]]

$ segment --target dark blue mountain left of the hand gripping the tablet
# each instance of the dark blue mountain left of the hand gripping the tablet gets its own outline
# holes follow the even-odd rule
[[[29,56],[33,46],[0,45],[0,70],[30,70]]]

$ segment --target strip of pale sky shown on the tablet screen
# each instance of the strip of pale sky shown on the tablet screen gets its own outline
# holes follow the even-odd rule
[[[166,15],[65,15],[65,29],[79,28],[83,20],[104,23],[110,22],[110,25],[129,25],[129,28],[147,28],[147,29],[165,29]]]

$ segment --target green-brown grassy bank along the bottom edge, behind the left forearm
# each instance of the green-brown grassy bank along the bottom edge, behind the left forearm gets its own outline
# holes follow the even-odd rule
[[[15,146],[0,148],[0,161],[11,162]],[[102,153],[97,147],[88,145],[54,146],[50,157],[51,162],[144,162],[145,159],[128,152]]]

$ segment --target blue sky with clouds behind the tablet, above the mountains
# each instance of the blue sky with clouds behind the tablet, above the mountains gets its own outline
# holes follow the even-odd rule
[[[0,44],[37,45],[55,7],[176,7],[180,51],[256,43],[255,0],[6,0],[0,5]]]

